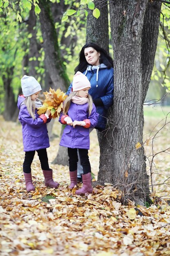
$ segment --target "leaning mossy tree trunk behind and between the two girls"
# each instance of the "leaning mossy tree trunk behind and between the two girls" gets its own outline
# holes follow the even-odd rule
[[[51,4],[49,1],[44,2],[40,0],[39,6],[41,9],[40,25],[44,40],[44,63],[52,81],[51,88],[56,90],[60,87],[60,89],[65,92],[70,82],[60,55],[57,33],[51,14]],[[59,147],[57,157],[54,159],[53,163],[68,165],[67,148]]]

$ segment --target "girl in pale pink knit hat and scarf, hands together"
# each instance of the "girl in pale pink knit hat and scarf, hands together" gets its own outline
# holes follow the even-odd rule
[[[87,77],[81,72],[77,72],[73,78],[72,92],[64,101],[64,110],[60,115],[61,124],[66,124],[64,128],[60,146],[68,148],[68,162],[71,184],[69,189],[77,186],[77,150],[79,151],[80,162],[83,166],[81,189],[75,191],[76,195],[92,193],[91,186],[91,165],[88,158],[90,148],[89,129],[97,125],[99,114],[93,103],[88,90],[91,84]]]

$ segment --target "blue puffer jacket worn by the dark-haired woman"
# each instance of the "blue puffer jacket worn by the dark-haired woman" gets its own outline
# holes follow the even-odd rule
[[[108,69],[106,65],[88,66],[83,72],[91,83],[91,89],[88,93],[93,99],[101,99],[104,106],[96,106],[99,119],[96,129],[102,131],[106,127],[107,110],[113,105],[113,67]],[[66,94],[70,94],[72,83]]]

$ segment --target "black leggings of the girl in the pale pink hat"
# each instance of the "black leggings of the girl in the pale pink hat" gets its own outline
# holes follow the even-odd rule
[[[80,157],[80,163],[83,166],[83,173],[91,173],[91,164],[89,162],[88,158],[88,149],[82,149],[82,148],[68,148],[68,162],[69,162],[69,171],[76,171],[77,170],[77,162],[78,162],[78,156],[77,156],[77,150],[79,150],[79,157]]]

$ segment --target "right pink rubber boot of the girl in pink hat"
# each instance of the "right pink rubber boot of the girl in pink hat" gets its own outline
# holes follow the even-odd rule
[[[91,185],[91,173],[82,175],[83,186],[81,189],[75,191],[76,195],[85,195],[85,193],[91,194],[93,192],[93,187]]]

